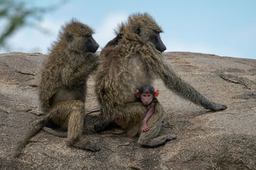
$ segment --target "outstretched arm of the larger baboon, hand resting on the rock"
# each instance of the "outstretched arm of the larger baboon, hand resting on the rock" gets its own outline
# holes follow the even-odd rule
[[[185,80],[180,78],[172,66],[164,62],[162,57],[147,57],[150,67],[157,73],[161,79],[164,81],[164,85],[168,89],[173,90],[179,96],[192,101],[195,104],[203,106],[205,109],[209,110],[225,110],[227,106],[223,104],[213,103],[206,99],[200,92],[198,92],[194,87],[189,85]]]

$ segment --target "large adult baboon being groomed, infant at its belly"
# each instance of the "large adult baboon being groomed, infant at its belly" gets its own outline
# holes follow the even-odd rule
[[[161,52],[166,50],[159,33],[161,28],[147,13],[131,15],[119,31],[123,38],[115,46],[102,50],[102,59],[97,69],[95,91],[102,108],[100,121],[95,131],[103,131],[115,118],[120,118],[122,128],[129,136],[140,134],[141,146],[159,146],[176,136],[156,137],[163,120],[163,108],[159,103],[148,120],[149,131],[141,133],[141,122],[147,106],[136,101],[134,90],[152,84],[156,74],[168,89],[209,110],[225,110],[227,106],[212,103],[191,85],[182,80],[172,66],[164,61]]]

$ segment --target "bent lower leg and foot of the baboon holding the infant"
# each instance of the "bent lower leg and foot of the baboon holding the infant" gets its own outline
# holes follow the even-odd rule
[[[140,138],[138,139],[139,145],[143,147],[156,147],[164,145],[167,141],[176,139],[175,134],[168,134],[164,136],[159,136],[159,131],[161,129],[161,124],[163,121],[163,108],[160,103],[156,103],[155,111],[152,116],[148,119],[147,125],[149,131],[141,132]]]

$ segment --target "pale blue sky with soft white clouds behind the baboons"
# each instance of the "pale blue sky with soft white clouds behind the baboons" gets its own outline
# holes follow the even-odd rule
[[[28,1],[47,6],[58,1]],[[166,52],[200,52],[256,59],[256,1],[67,1],[44,16],[44,34],[24,27],[10,38],[12,51],[48,53],[60,26],[71,18],[95,29],[100,48],[114,37],[113,29],[132,13],[147,12],[162,27]],[[0,50],[1,53],[5,52]]]

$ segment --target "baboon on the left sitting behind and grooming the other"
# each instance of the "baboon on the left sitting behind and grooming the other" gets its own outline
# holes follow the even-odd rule
[[[39,96],[45,116],[19,143],[14,157],[50,121],[67,129],[68,145],[99,150],[90,141],[81,139],[86,81],[99,64],[99,57],[95,54],[99,45],[92,38],[92,34],[93,31],[88,25],[76,20],[62,27],[59,39],[54,43],[42,69]]]

